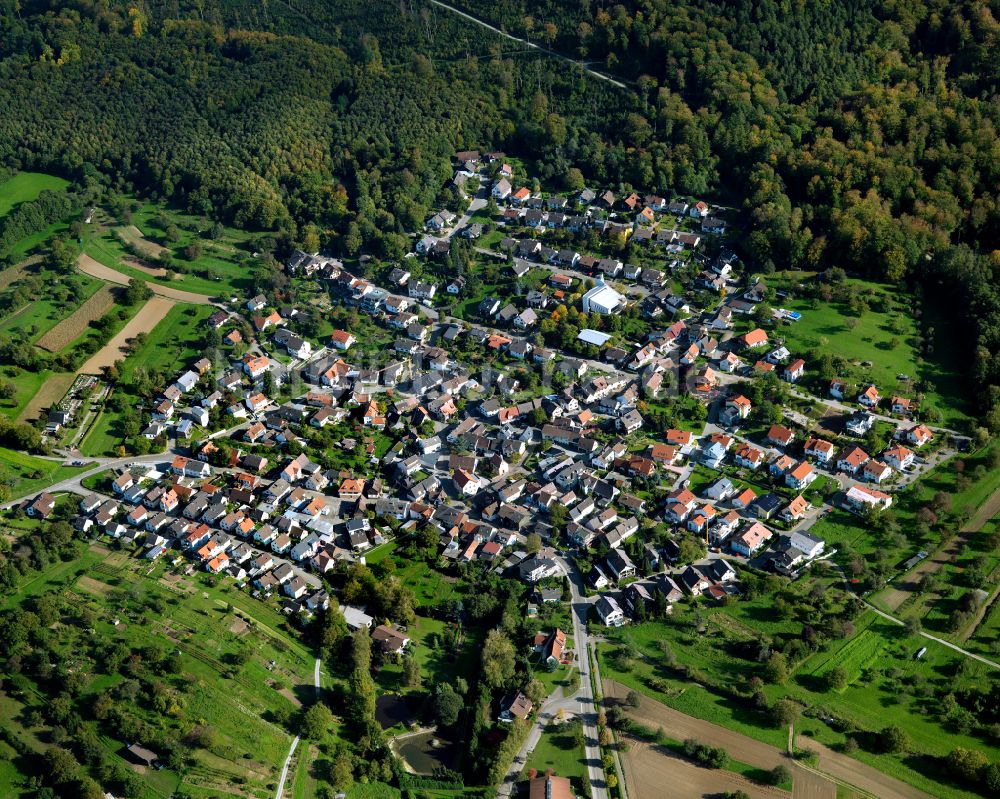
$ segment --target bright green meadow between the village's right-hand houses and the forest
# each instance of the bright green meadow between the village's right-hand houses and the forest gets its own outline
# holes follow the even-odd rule
[[[806,272],[779,272],[766,278],[768,286],[787,289],[808,283],[815,275]],[[780,325],[772,337],[783,338],[793,355],[803,357],[811,350],[834,352],[851,362],[851,374],[842,375],[858,382],[874,382],[884,396],[901,393],[912,396],[913,388],[900,383],[896,375],[909,375],[927,384],[925,406],[941,413],[943,422],[955,426],[969,419],[969,402],[964,377],[959,371],[958,341],[946,318],[933,319],[937,313],[927,303],[920,308],[929,314],[926,324],[934,328],[934,351],[923,358],[918,347],[922,333],[914,317],[915,300],[897,288],[862,280],[847,283],[861,291],[870,291],[870,309],[855,315],[844,303],[811,298],[779,298],[776,307],[798,311],[799,321]],[[854,322],[848,322],[854,319]],[[853,328],[851,327],[853,325]],[[862,364],[870,362],[870,366]],[[807,367],[808,369],[808,364]]]

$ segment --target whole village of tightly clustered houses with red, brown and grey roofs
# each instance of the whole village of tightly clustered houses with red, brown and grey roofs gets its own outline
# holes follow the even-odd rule
[[[809,532],[822,514],[880,513],[951,446],[912,397],[810,375],[782,343],[798,314],[743,278],[725,209],[545,195],[501,153],[455,163],[449,191],[468,210],[435,214],[402,263],[362,276],[318,253],[288,260],[356,329],[310,341],[296,332],[307,311],[263,294],[213,313],[222,354],[180,364],[150,398],[153,454],[80,501],[77,529],[294,616],[329,606],[338,564],[432,529],[443,570],[540,586],[581,569],[592,621],[619,626],[738,596],[746,567],[796,577],[831,555]],[[614,255],[625,240],[636,263]],[[482,263],[493,286],[475,286]],[[373,330],[386,337],[366,349]],[[795,398],[822,406],[822,424]],[[53,507],[43,493],[26,511]],[[341,612],[373,627],[363,607]],[[393,624],[373,634],[387,652],[408,642]]]

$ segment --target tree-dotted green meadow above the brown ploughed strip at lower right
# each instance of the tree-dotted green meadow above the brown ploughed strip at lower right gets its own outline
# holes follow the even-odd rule
[[[598,648],[603,676],[691,716],[783,747],[786,731],[768,723],[747,700],[729,699],[703,686],[740,684],[753,673],[752,664],[736,654],[740,642],[761,635],[794,637],[801,623],[779,618],[770,597],[725,607],[701,606],[697,613],[700,629],[694,626],[693,611],[675,606],[675,618],[669,622],[649,622],[614,631],[609,643]],[[957,690],[962,685],[977,685],[988,678],[987,667],[980,669],[973,663],[963,669],[961,677],[956,677],[955,668],[961,658],[945,647],[911,638],[902,628],[882,621],[870,611],[860,616],[856,625],[858,632],[854,636],[832,641],[827,649],[807,657],[785,684],[765,686],[772,702],[789,696],[813,709],[796,722],[797,734],[837,747],[846,736],[817,718],[833,716],[872,732],[897,724],[907,731],[913,751],[924,755],[942,757],[955,746],[963,746],[982,751],[991,760],[1000,756],[993,742],[940,723],[935,716],[935,701],[924,689],[954,686]],[[686,667],[687,677],[665,664],[661,641],[667,642],[676,662]],[[926,654],[916,660],[915,652],[925,645]],[[628,655],[623,657],[622,651]],[[837,664],[854,670],[854,681],[840,692],[827,690],[822,679]],[[873,744],[869,748],[863,744],[854,756],[934,796],[971,796],[929,776],[933,757],[926,758],[925,770],[920,758],[878,754]]]

